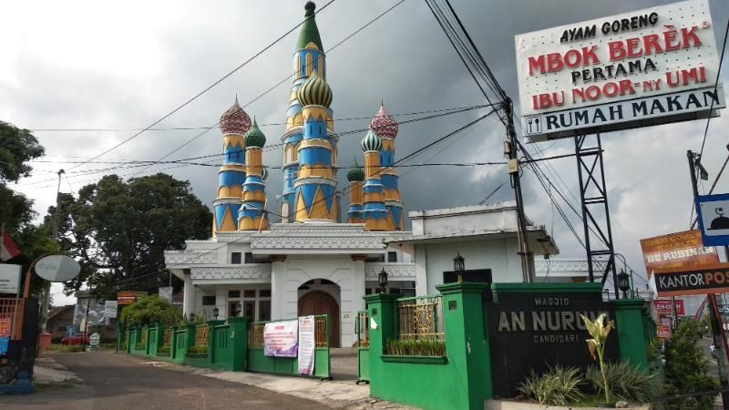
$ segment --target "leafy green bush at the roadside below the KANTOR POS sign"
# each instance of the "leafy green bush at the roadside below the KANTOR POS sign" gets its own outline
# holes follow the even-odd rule
[[[709,361],[700,346],[701,324],[679,323],[678,330],[665,343],[665,382],[663,395],[684,395],[719,388],[719,382],[708,374]],[[678,408],[712,408],[714,395],[699,395],[668,402]]]

